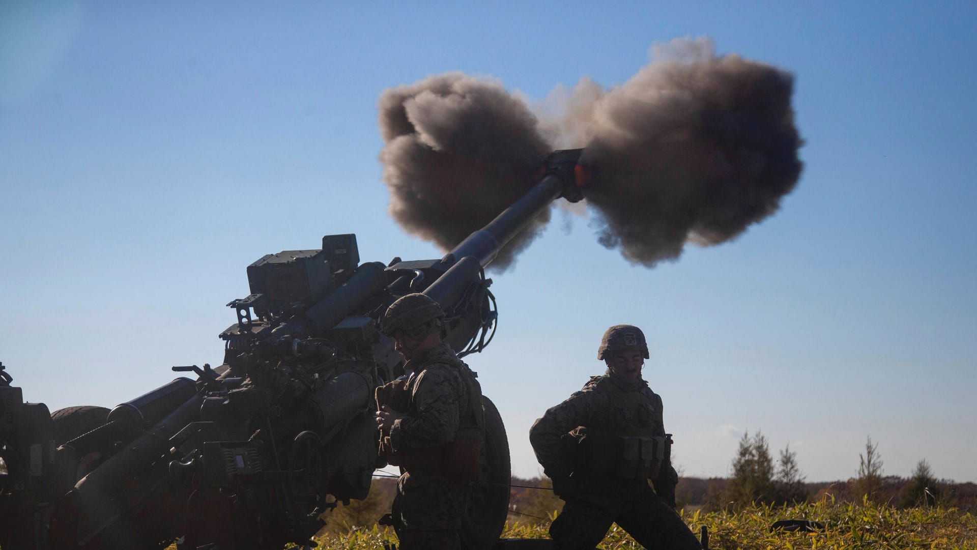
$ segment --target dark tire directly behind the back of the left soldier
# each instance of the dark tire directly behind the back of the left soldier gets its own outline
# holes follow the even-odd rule
[[[485,396],[485,444],[479,457],[479,479],[468,486],[461,517],[461,545],[467,550],[488,550],[498,542],[509,513],[509,440],[495,405]]]

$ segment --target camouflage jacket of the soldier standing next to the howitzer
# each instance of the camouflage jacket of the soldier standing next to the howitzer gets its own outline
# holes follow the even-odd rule
[[[446,343],[408,360],[404,370],[410,371],[404,386],[407,402],[399,412],[406,416],[394,422],[391,446],[400,451],[452,442],[459,426],[471,422],[471,400],[481,399],[475,374]],[[470,378],[468,383],[462,377]],[[473,391],[480,395],[470,396]]]

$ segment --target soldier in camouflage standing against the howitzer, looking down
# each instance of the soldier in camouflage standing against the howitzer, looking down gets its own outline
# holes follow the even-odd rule
[[[406,374],[376,391],[381,452],[402,472],[392,514],[402,550],[460,548],[465,479],[451,471],[452,452],[461,433],[484,423],[475,374],[441,340],[443,317],[429,297],[408,294],[381,322],[406,360]],[[474,459],[477,468],[477,449]]]

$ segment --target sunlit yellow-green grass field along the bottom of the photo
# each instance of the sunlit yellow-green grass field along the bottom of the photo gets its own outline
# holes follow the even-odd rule
[[[718,550],[962,550],[977,549],[977,518],[956,508],[900,510],[865,502],[821,502],[792,508],[755,506],[739,513],[683,514],[691,529],[709,531],[709,548]],[[815,532],[771,532],[775,521],[812,520],[824,524]],[[546,525],[509,524],[503,537],[547,538]],[[392,530],[354,529],[319,539],[319,548],[367,550],[396,541]],[[612,528],[601,545],[610,549],[640,548],[623,531]]]

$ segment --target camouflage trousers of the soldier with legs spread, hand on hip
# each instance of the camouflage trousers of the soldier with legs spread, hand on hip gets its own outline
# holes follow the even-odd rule
[[[611,524],[650,550],[701,550],[696,535],[651,488],[619,498],[601,498],[602,504],[582,497],[566,500],[563,512],[550,526],[556,550],[592,550],[604,540]]]

